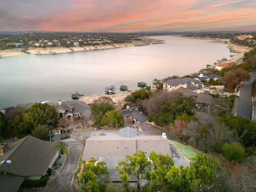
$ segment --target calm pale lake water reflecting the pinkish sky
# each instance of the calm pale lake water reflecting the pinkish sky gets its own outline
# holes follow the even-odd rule
[[[137,89],[137,82],[197,72],[223,57],[227,44],[204,39],[154,36],[164,44],[119,49],[26,55],[0,59],[0,109],[18,103],[70,100],[71,91],[104,94],[120,82]]]

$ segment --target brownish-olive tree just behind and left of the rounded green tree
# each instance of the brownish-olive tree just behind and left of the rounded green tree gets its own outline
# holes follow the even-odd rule
[[[109,103],[93,104],[91,106],[92,114],[95,117],[95,125],[102,125],[102,117],[111,110],[115,110],[114,106]]]

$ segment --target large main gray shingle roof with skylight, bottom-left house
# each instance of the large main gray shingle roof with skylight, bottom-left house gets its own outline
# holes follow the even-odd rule
[[[13,143],[9,151],[0,156],[0,171],[20,175],[44,175],[53,157],[58,153],[54,142],[28,135]],[[11,163],[6,163],[10,160]]]

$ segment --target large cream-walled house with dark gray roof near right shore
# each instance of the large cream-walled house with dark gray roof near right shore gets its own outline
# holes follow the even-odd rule
[[[179,89],[180,87],[184,87],[189,90],[195,91],[201,89],[203,85],[203,82],[197,79],[185,77],[167,80],[166,82],[164,82],[163,89],[166,91],[174,91]]]

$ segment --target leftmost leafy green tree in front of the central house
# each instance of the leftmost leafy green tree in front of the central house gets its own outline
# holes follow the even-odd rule
[[[105,181],[109,176],[105,162],[97,162],[91,157],[86,169],[82,173],[80,182],[84,185],[85,191],[105,191]]]

